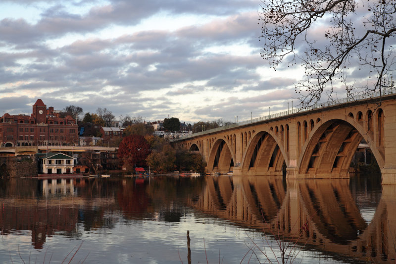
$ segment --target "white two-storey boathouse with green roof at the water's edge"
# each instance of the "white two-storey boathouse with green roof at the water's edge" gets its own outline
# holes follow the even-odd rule
[[[74,158],[63,153],[48,153],[40,162],[41,171],[44,174],[72,173]]]

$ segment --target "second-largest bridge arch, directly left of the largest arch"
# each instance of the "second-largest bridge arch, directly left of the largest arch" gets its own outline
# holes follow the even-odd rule
[[[281,125],[282,130],[283,126]],[[241,170],[246,175],[282,175],[283,165],[289,166],[289,156],[285,149],[288,142],[282,134],[273,130],[256,132],[248,141],[242,158]],[[287,125],[287,133],[289,126]],[[280,137],[278,137],[280,136]],[[286,139],[288,140],[288,139]],[[284,144],[286,143],[286,144]]]

